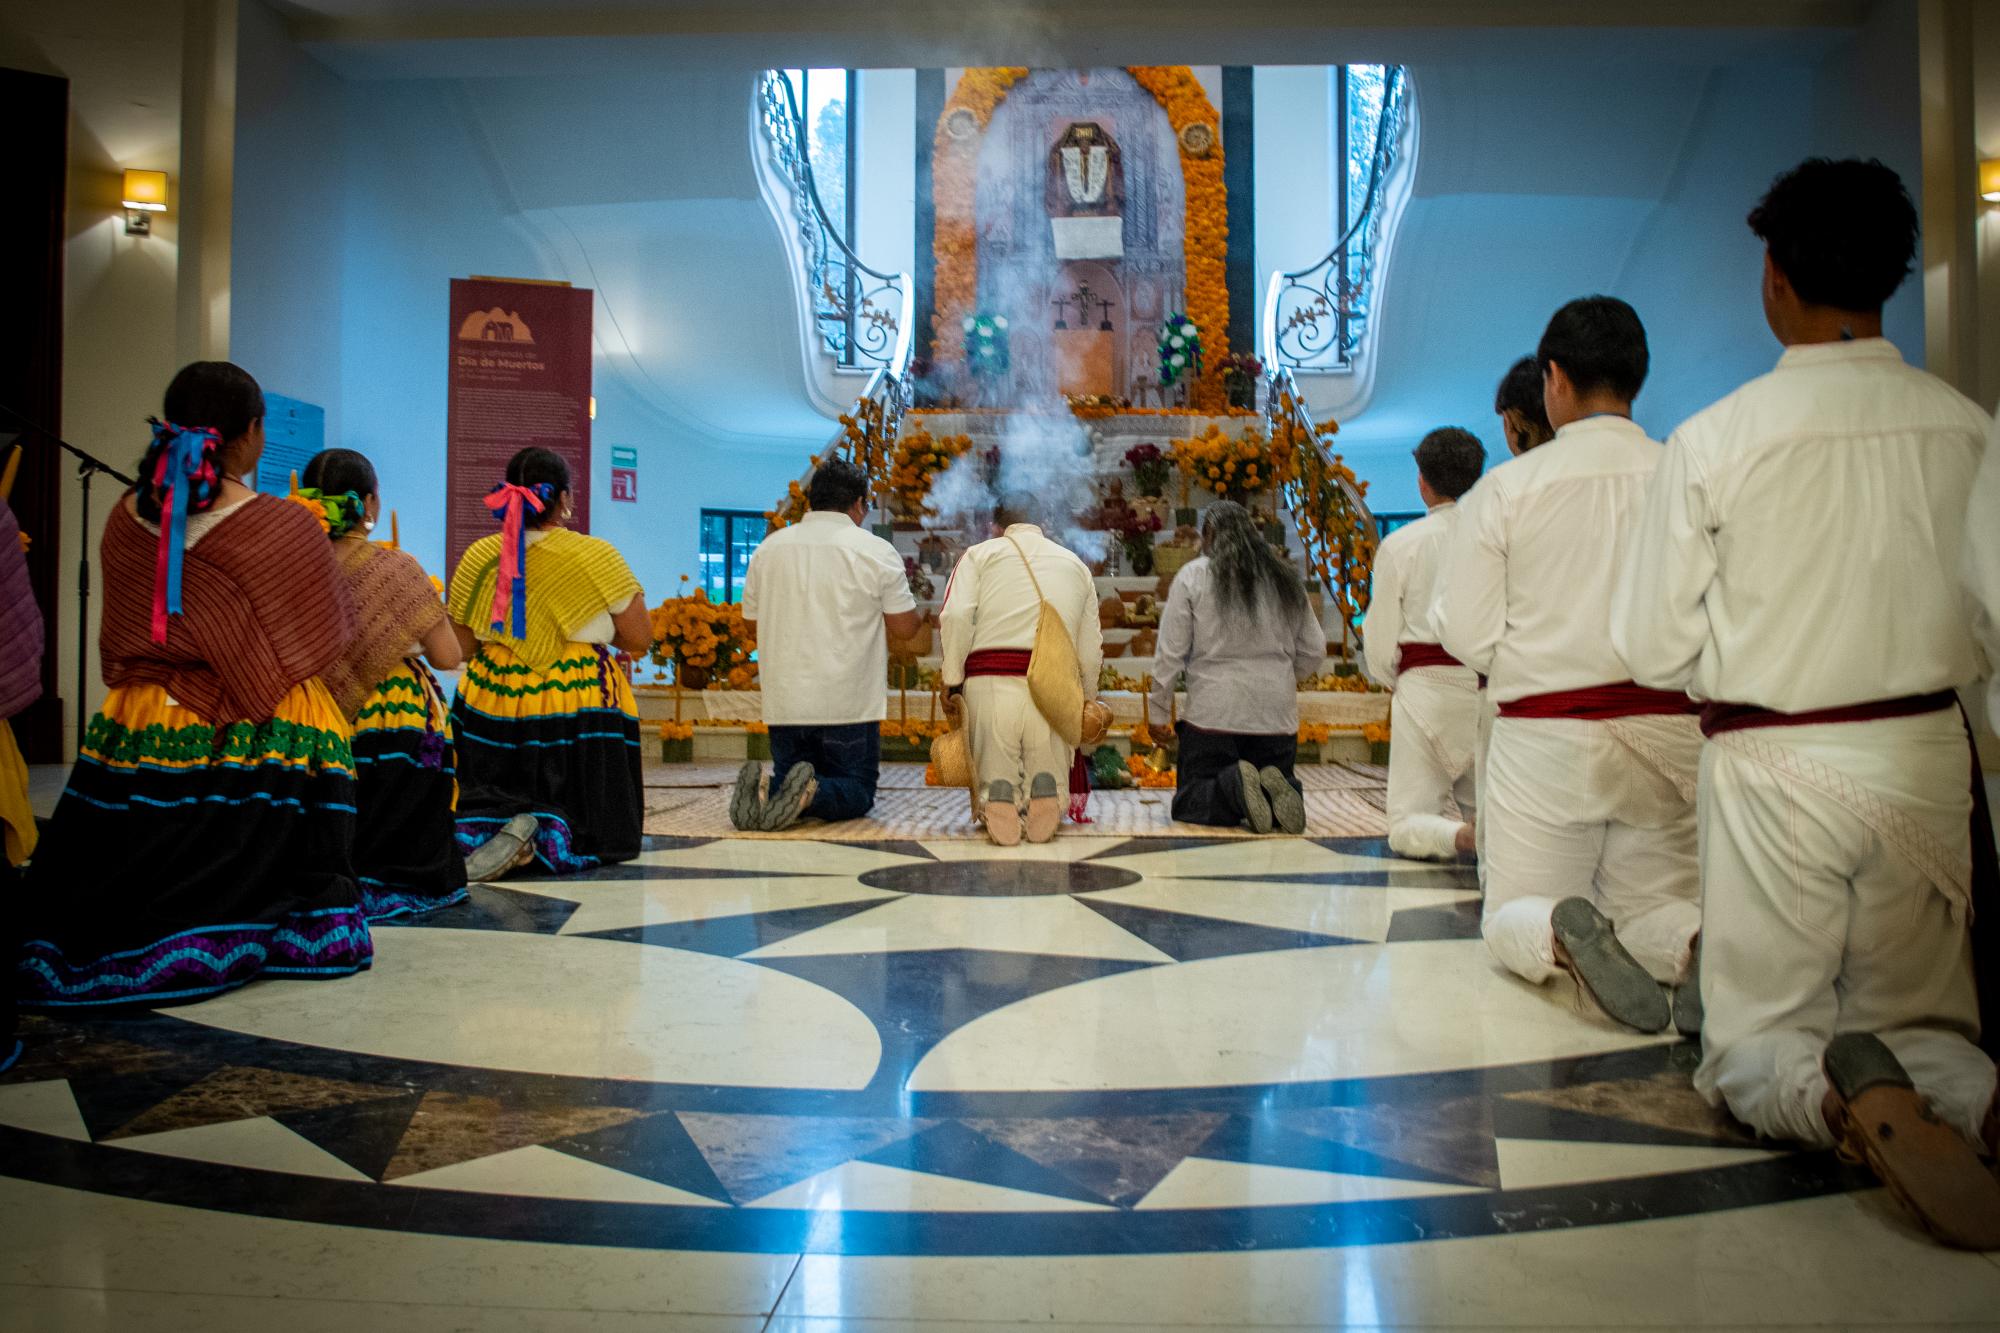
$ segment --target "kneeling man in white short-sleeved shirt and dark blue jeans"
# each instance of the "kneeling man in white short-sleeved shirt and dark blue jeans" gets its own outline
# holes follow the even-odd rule
[[[776,833],[874,807],[888,717],[888,638],[918,630],[902,556],[864,530],[868,474],[844,458],[812,472],[806,516],[764,538],[744,576],[770,727],[770,781],[748,763],[730,819]]]

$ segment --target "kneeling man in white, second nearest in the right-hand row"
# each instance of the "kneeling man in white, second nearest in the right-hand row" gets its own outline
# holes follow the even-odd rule
[[[1646,691],[1612,650],[1618,552],[1658,442],[1632,422],[1646,330],[1622,300],[1572,300],[1536,352],[1556,436],[1464,500],[1436,630],[1500,705],[1488,749],[1482,933],[1542,983],[1572,973],[1620,1023],[1662,1031],[1700,933],[1686,695]],[[1676,1015],[1676,1009],[1680,1013]]]

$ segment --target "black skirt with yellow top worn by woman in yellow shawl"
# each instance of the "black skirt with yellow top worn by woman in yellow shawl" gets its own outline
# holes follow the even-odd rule
[[[556,875],[640,851],[638,703],[600,644],[572,642],[548,671],[484,642],[452,701],[458,847],[472,851],[514,815],[534,815],[534,855]]]

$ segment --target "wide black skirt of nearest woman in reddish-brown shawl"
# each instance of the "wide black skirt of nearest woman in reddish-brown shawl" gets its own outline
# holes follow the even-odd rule
[[[254,977],[346,977],[374,945],[354,755],[326,687],[212,727],[158,685],[90,721],[20,891],[22,1005],[170,1005]]]

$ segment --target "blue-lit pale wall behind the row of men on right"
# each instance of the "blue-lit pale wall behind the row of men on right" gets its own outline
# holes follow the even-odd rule
[[[1532,76],[1412,66],[1422,148],[1376,308],[1376,392],[1338,440],[1374,508],[1420,506],[1408,450],[1434,426],[1470,428],[1488,464],[1506,456],[1494,384],[1574,296],[1638,308],[1654,368],[1636,416],[1654,434],[1768,370],[1780,348],[1744,214],[1798,160],[1880,154],[1916,190],[1914,72],[1882,34],[1774,40],[1712,66],[1612,42],[1572,38],[1572,58]],[[1260,210],[1268,198],[1260,180]],[[1888,330],[1920,364],[1916,282]]]

